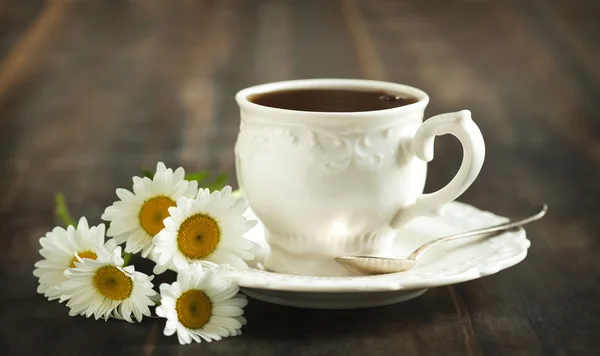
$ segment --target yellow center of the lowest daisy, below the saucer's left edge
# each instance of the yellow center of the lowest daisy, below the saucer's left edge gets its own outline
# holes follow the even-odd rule
[[[190,289],[177,299],[175,310],[181,325],[188,329],[200,329],[210,320],[212,302],[203,291]]]

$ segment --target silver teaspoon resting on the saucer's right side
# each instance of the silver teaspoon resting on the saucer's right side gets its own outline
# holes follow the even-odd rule
[[[512,222],[503,223],[500,225],[485,227],[482,229],[462,232],[450,236],[440,237],[430,241],[421,247],[413,251],[407,258],[387,258],[387,257],[372,257],[372,256],[343,256],[336,257],[335,260],[346,267],[348,270],[361,275],[374,275],[374,274],[385,274],[385,273],[396,273],[407,271],[414,267],[419,257],[421,257],[425,251],[430,248],[437,246],[441,243],[462,239],[465,237],[472,237],[477,235],[489,234],[492,232],[501,232],[510,229],[520,227],[530,222],[541,219],[546,215],[548,206],[544,204],[542,208],[534,215]]]

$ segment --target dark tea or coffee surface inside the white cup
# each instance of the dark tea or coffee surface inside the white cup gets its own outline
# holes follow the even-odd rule
[[[344,89],[298,89],[256,94],[249,98],[255,104],[272,108],[321,111],[356,112],[396,108],[416,103],[416,98],[383,91]]]

